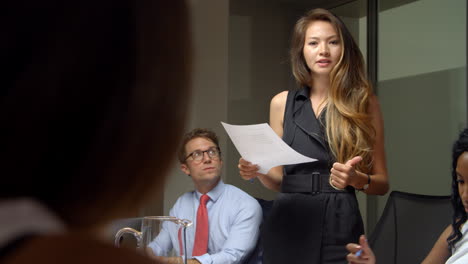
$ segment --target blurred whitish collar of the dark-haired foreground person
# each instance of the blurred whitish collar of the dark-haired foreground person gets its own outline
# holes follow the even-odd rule
[[[64,224],[40,203],[28,199],[0,201],[0,248],[25,234],[61,233]]]

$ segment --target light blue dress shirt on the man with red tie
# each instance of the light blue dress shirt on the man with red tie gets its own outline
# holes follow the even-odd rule
[[[207,194],[210,196],[206,205],[209,225],[208,253],[194,258],[202,264],[240,263],[257,243],[262,209],[253,197],[235,186],[224,184],[221,180]],[[193,225],[186,229],[188,256],[191,256],[193,250],[201,195],[197,191],[183,194],[169,213],[179,219],[193,221]],[[181,255],[178,226],[171,222],[164,223],[161,232],[149,247],[156,255],[166,255],[172,249],[177,255]]]

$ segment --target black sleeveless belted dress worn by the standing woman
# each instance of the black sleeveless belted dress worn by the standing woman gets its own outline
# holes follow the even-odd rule
[[[355,191],[329,184],[334,162],[325,137],[325,111],[318,120],[310,88],[288,93],[283,140],[318,161],[284,166],[281,193],[262,232],[263,263],[347,263],[347,243],[364,233]]]

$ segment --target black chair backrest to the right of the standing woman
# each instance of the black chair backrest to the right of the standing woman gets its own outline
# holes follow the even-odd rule
[[[421,263],[450,224],[450,196],[393,191],[369,243],[379,264]]]

